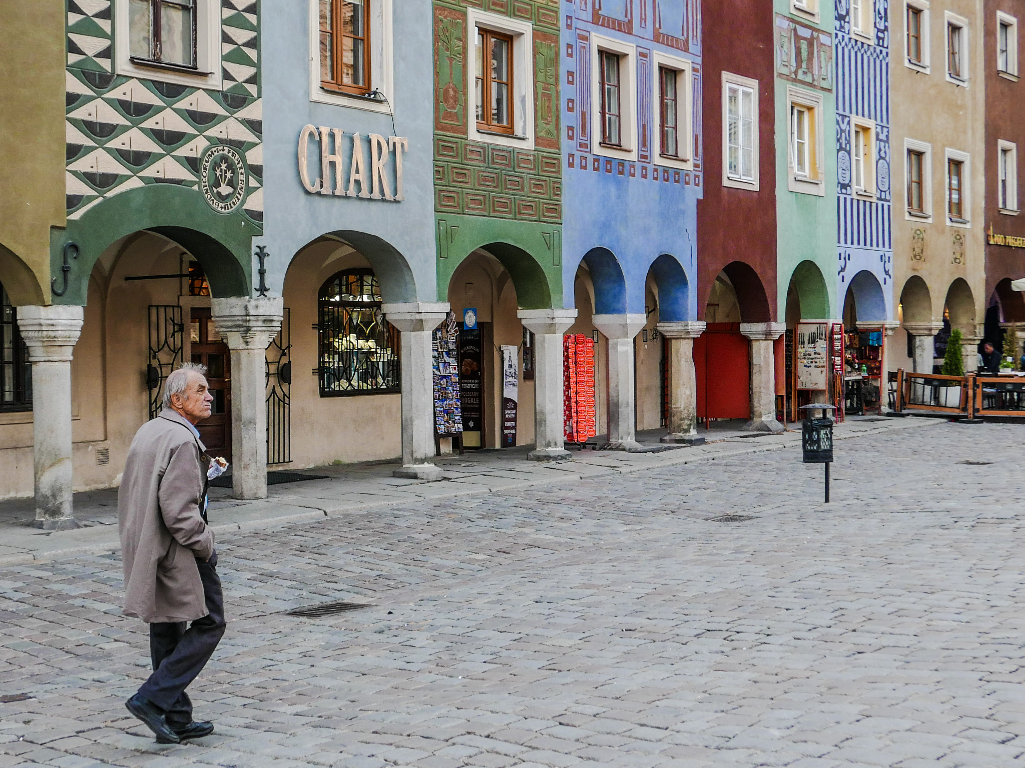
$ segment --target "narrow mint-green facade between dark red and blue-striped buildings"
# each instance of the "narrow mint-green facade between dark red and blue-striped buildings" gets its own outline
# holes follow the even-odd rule
[[[833,3],[818,0],[817,18],[792,10],[792,0],[774,0],[776,68],[776,242],[778,319],[784,321],[791,280],[802,317],[838,316],[836,309],[836,101],[833,66]],[[822,195],[792,191],[790,94],[821,97],[816,110],[814,167]]]

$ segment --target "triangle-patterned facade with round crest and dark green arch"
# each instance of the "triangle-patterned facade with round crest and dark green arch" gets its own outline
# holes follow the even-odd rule
[[[67,230],[50,242],[61,273],[66,244],[78,246],[67,292],[54,302],[84,304],[93,263],[140,229],[179,244],[204,266],[214,296],[250,293],[250,244],[262,233],[262,116],[257,3],[222,0],[220,88],[160,80],[160,69],[118,74],[118,18],[110,0],[67,6]],[[202,23],[202,19],[200,19]],[[204,161],[220,146],[241,167],[228,175],[244,191],[229,212],[201,191]],[[217,163],[211,165],[219,165]],[[216,169],[207,167],[211,185]],[[216,199],[215,199],[216,200]]]

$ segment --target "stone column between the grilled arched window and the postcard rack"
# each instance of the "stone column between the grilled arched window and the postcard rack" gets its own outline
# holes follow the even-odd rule
[[[402,345],[402,467],[396,477],[440,480],[435,466],[435,380],[432,333],[448,316],[447,302],[381,304]]]

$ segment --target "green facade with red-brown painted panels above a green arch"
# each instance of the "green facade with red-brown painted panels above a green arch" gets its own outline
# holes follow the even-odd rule
[[[533,26],[534,148],[470,140],[475,37],[467,7]],[[523,309],[562,306],[559,0],[434,3],[435,212],[438,298],[484,248],[508,270]]]

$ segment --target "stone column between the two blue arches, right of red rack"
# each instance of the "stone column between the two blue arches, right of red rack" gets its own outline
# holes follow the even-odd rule
[[[609,444],[611,451],[640,451],[634,440],[633,338],[647,315],[596,314],[594,328],[609,340]]]

